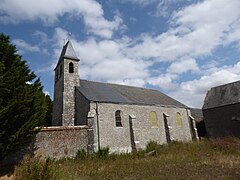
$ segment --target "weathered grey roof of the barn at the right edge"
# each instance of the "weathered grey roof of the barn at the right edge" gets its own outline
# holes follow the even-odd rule
[[[240,81],[211,88],[205,97],[203,109],[240,103]]]

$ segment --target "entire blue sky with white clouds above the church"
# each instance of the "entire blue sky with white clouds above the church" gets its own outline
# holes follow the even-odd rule
[[[240,0],[0,0],[0,33],[53,97],[67,40],[81,79],[157,89],[201,108],[240,80]]]

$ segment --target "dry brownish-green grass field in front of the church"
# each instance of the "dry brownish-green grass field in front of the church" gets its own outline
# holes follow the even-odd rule
[[[145,151],[132,154],[103,151],[80,151],[76,159],[58,161],[25,158],[14,179],[240,179],[239,139],[150,142]],[[150,151],[156,153],[146,156]]]

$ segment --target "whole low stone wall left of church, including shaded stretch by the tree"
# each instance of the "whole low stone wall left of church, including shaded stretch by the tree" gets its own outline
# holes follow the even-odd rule
[[[33,141],[0,162],[2,166],[19,163],[24,156],[60,159],[74,158],[78,150],[93,152],[93,131],[88,126],[43,127]],[[91,144],[92,143],[92,144]]]

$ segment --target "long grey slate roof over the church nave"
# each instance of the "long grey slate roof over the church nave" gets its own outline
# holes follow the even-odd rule
[[[80,80],[77,87],[89,101],[187,108],[177,100],[153,89]]]

